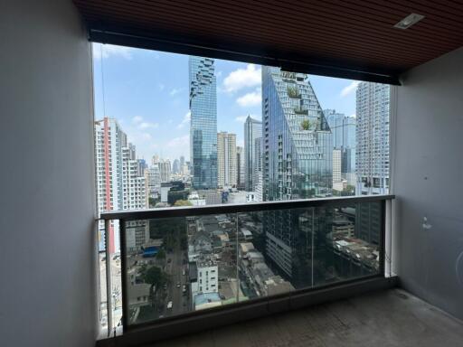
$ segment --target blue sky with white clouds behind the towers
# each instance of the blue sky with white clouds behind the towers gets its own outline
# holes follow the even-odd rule
[[[188,56],[95,43],[93,57],[95,118],[118,119],[139,158],[189,158]],[[244,118],[261,117],[260,66],[216,60],[215,73],[217,130],[243,145]],[[356,81],[309,80],[322,108],[355,114]]]

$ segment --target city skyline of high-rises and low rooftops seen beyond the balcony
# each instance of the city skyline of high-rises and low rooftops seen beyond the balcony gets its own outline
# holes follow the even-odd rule
[[[188,57],[189,117],[183,124],[190,136],[183,151],[190,151],[189,161],[183,152],[172,158],[154,154],[139,159],[136,145],[129,142],[118,119],[103,117],[95,122],[99,211],[351,194],[345,177],[353,174],[354,161],[355,172],[362,174],[373,174],[372,155],[374,169],[387,166],[382,162],[387,159],[383,150],[388,150],[383,138],[389,124],[385,86],[354,85],[357,127],[356,118],[322,108],[309,75],[262,66],[256,76],[261,90],[255,91],[261,98],[261,121],[254,115],[245,117],[241,147],[236,133],[217,127],[220,92],[215,69],[214,59]],[[156,128],[138,120],[139,130]],[[364,192],[363,183],[387,185],[387,178],[378,175],[366,180],[359,176],[358,192]],[[239,176],[244,176],[244,184],[240,182],[244,192],[238,189]],[[318,217],[313,209],[261,211],[249,215],[244,224],[242,213],[240,218],[222,214],[193,217],[186,223],[171,220],[166,226],[130,220],[122,230],[118,221],[111,221],[110,251],[120,251],[117,240],[123,231],[129,257],[137,258],[128,267],[128,303],[134,312],[141,313],[143,307],[144,314],[134,314],[133,322],[374,273],[381,242],[378,206],[345,211],[322,207],[317,213]],[[100,249],[103,233],[100,222]],[[364,255],[356,253],[353,269],[354,262],[346,256],[351,249],[358,252],[359,246]],[[146,258],[154,258],[148,267]],[[179,266],[166,267],[169,263]],[[156,286],[150,285],[148,271],[161,275]]]

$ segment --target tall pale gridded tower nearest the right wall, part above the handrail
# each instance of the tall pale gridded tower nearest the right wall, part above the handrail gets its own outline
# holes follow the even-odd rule
[[[389,192],[390,86],[361,82],[356,91],[356,192]]]

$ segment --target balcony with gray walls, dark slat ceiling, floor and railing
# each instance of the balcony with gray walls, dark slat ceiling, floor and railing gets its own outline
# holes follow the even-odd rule
[[[394,26],[411,12],[424,18],[408,29]],[[0,17],[2,346],[462,345],[459,2],[23,0],[2,2]],[[119,59],[129,59],[128,47],[137,47],[280,67],[340,83],[391,84],[385,143],[391,148],[386,167],[393,195],[100,216],[93,93],[99,75],[93,71],[92,42],[125,46]],[[146,84],[150,92],[156,87],[155,79]],[[184,92],[189,96],[191,90]],[[231,102],[244,94],[236,91]],[[368,100],[359,99],[358,107],[367,108]],[[273,127],[272,100],[263,101],[265,124]],[[126,111],[101,110],[105,117]],[[246,114],[243,108],[235,116]],[[272,149],[266,148],[269,167]],[[372,146],[357,145],[362,148]],[[271,175],[264,177],[273,183]],[[269,197],[269,189],[265,192]],[[355,212],[352,224],[333,219],[365,206],[377,207],[366,220],[366,233],[357,229],[363,214],[358,220]],[[370,223],[377,218],[379,230]],[[156,225],[174,220],[189,248],[192,228],[204,219],[225,225],[217,229],[227,232],[220,233],[220,242],[199,246],[212,248],[214,256],[227,249],[228,275],[215,277],[211,268],[198,276],[197,267],[190,271],[190,259],[183,264],[184,254],[176,258],[179,263],[168,263],[178,252],[174,242],[160,264],[169,277],[160,286],[146,283],[157,276],[147,268],[156,265],[149,261],[158,260],[151,257],[156,249],[141,249],[143,228],[154,220],[156,231]],[[260,243],[250,222],[269,230],[262,231]],[[286,223],[291,228],[282,228]],[[106,224],[107,240],[110,226],[120,228],[119,259],[109,248],[99,254],[99,224]],[[134,260],[147,261],[146,269]],[[179,280],[171,278],[172,269]],[[194,273],[204,286],[195,305]],[[213,285],[220,286],[218,292]],[[217,295],[205,291],[219,293],[220,305]],[[176,297],[167,296],[159,312],[155,292]],[[146,306],[147,314],[141,309]]]

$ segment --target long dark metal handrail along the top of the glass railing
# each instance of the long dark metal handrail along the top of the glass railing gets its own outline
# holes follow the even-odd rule
[[[340,203],[381,202],[392,200],[395,195],[360,195],[330,198],[287,200],[278,202],[226,203],[207,206],[166,207],[145,210],[121,210],[101,212],[100,220],[148,220],[157,218],[191,217],[207,214],[241,213],[321,207]]]

